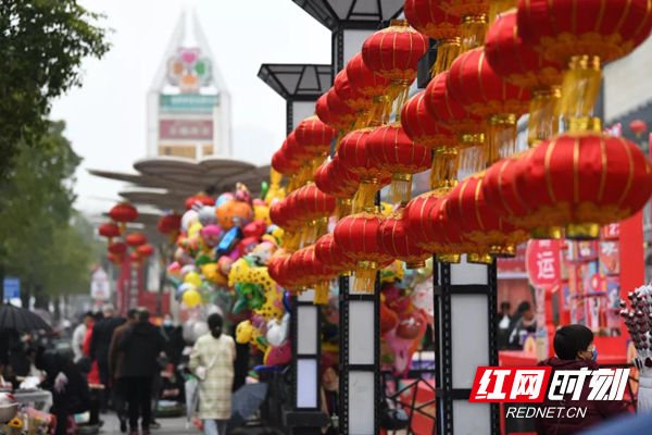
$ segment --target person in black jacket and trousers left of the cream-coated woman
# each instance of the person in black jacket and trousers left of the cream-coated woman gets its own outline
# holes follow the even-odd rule
[[[156,359],[165,349],[165,339],[149,316],[149,310],[138,310],[138,321],[117,341],[117,350],[124,352],[121,378],[127,384],[131,435],[138,435],[139,419],[142,435],[150,434],[153,373],[161,370]]]

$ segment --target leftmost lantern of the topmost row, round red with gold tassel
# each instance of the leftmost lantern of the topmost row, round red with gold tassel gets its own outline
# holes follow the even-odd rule
[[[389,27],[376,32],[364,41],[364,64],[389,80],[383,124],[389,120],[394,100],[397,112],[408,100],[410,86],[416,78],[416,64],[426,51],[428,38],[411,28],[404,20],[392,20]]]

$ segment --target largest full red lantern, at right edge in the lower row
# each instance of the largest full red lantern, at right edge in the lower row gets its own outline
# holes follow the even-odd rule
[[[570,239],[597,238],[600,225],[637,213],[652,195],[652,167],[631,141],[569,132],[522,161],[515,186],[528,228],[565,226]]]

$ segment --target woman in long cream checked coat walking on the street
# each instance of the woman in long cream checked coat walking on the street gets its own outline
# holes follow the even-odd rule
[[[211,314],[208,323],[209,333],[195,344],[189,368],[200,380],[199,418],[203,420],[204,435],[225,435],[231,414],[236,344],[222,334],[220,314]]]

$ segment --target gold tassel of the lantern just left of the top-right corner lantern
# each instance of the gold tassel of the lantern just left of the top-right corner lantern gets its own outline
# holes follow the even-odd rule
[[[527,127],[527,145],[529,147],[535,147],[559,133],[557,105],[561,97],[562,89],[559,86],[532,91]]]

